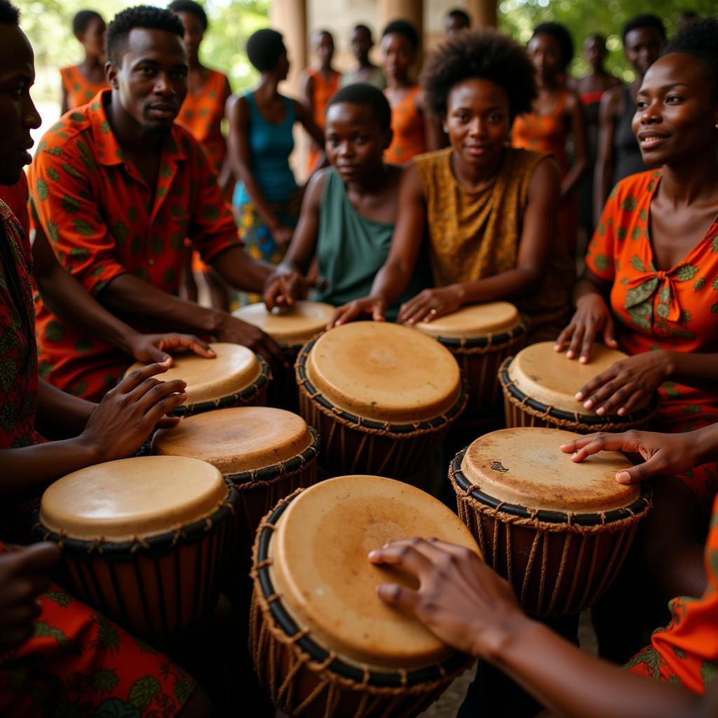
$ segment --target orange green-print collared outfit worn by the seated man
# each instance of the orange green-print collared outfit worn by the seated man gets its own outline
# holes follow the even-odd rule
[[[112,133],[110,93],[67,113],[40,141],[29,176],[31,223],[91,294],[125,272],[176,294],[184,238],[210,261],[239,242],[236,225],[205,151],[179,124],[164,141],[157,187],[147,185]],[[131,358],[35,301],[40,376],[101,398]]]

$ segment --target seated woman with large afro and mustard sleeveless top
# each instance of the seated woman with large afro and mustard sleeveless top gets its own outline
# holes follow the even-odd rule
[[[574,272],[556,228],[556,162],[508,146],[513,118],[536,96],[533,66],[504,34],[463,32],[428,58],[423,85],[451,146],[404,169],[386,264],[368,296],[337,310],[333,323],[383,319],[409,287],[426,232],[436,289],[403,304],[400,322],[507,299],[528,314],[540,340],[562,325]]]

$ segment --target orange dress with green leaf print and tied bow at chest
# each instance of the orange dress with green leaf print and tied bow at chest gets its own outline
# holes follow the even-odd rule
[[[632,174],[611,192],[586,255],[588,268],[612,283],[610,308],[620,348],[718,352],[718,221],[667,271],[653,264],[648,213],[661,170]],[[718,421],[718,393],[666,382],[655,428],[688,432]],[[710,510],[718,492],[718,465],[681,476]]]

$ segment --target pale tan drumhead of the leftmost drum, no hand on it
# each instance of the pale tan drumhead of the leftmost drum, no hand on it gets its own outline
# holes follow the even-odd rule
[[[42,495],[40,521],[69,538],[129,541],[209,516],[228,494],[220,472],[182,457],[98,464],[62,477]]]

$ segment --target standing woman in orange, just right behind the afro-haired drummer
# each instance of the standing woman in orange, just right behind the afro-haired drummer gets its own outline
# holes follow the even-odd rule
[[[576,188],[586,172],[588,149],[581,101],[566,84],[574,44],[569,31],[556,22],[544,22],[533,30],[526,48],[536,68],[538,98],[532,111],[513,123],[511,144],[523,149],[551,152],[561,169],[559,236],[575,253],[578,213]],[[573,140],[573,162],[569,163],[567,143]]]

